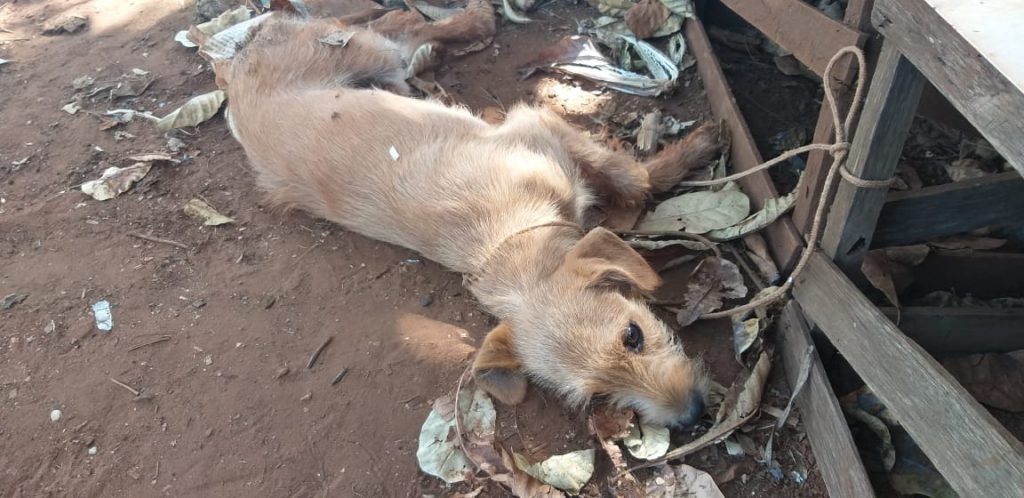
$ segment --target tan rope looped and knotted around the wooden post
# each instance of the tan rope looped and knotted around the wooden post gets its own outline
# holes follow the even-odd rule
[[[846,114],[845,119],[840,118],[839,105],[836,102],[836,94],[833,92],[833,71],[836,64],[843,58],[844,55],[853,55],[857,60],[857,82],[854,87],[853,101],[850,102],[850,110]],[[803,252],[800,254],[800,259],[797,261],[797,265],[793,268],[793,273],[790,274],[790,278],[785,280],[778,289],[754,299],[746,304],[737,306],[731,309],[724,309],[721,312],[715,312],[706,314],[700,317],[701,320],[714,320],[720,318],[727,318],[733,315],[738,315],[742,313],[750,312],[757,307],[761,307],[765,304],[770,304],[782,297],[793,288],[793,284],[797,277],[804,271],[807,266],[808,261],[810,261],[811,256],[817,249],[819,239],[821,237],[821,224],[825,217],[825,208],[831,204],[833,186],[836,183],[836,175],[839,174],[848,183],[860,188],[860,189],[888,189],[892,179],[888,180],[871,180],[864,179],[855,176],[846,168],[846,159],[850,153],[850,142],[848,136],[850,135],[850,128],[853,127],[853,120],[857,113],[860,111],[860,106],[863,101],[863,91],[866,80],[866,65],[864,63],[864,53],[855,46],[848,46],[840,49],[836,52],[836,55],[828,61],[828,66],[825,67],[825,73],[823,79],[824,90],[825,90],[825,101],[828,103],[828,109],[831,111],[833,116],[833,127],[836,130],[836,140],[831,144],[825,143],[810,143],[801,148],[797,148],[783,153],[781,156],[767,161],[763,164],[755,166],[749,170],[726,176],[724,178],[718,178],[714,180],[701,180],[701,181],[683,181],[679,183],[682,186],[710,186],[719,183],[725,183],[735,179],[742,178],[744,176],[757,173],[759,171],[768,169],[776,164],[786,161],[793,157],[805,154],[810,151],[825,151],[833,157],[831,166],[828,168],[828,174],[825,176],[824,184],[822,185],[821,198],[818,200],[818,205],[814,210],[814,219],[811,223],[811,232],[808,234],[807,246],[804,247]],[[798,185],[799,188],[799,185]]]

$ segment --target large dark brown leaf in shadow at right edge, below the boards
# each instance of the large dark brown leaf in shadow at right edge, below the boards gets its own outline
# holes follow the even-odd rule
[[[942,366],[982,404],[1024,412],[1024,350],[949,358]]]

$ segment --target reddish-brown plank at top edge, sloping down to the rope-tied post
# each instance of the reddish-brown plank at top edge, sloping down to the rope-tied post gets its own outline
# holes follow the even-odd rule
[[[722,0],[730,10],[793,52],[818,76],[841,48],[860,46],[863,34],[801,0]]]

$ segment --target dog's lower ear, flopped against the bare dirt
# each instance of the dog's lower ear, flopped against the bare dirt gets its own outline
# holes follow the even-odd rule
[[[526,377],[522,364],[512,349],[512,329],[502,323],[483,338],[473,361],[476,385],[506,405],[517,405],[526,398]]]

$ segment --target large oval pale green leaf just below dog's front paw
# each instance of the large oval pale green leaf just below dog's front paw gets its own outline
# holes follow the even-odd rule
[[[639,231],[686,231],[706,234],[742,220],[751,212],[751,201],[742,192],[694,192],[669,199],[640,220]]]

